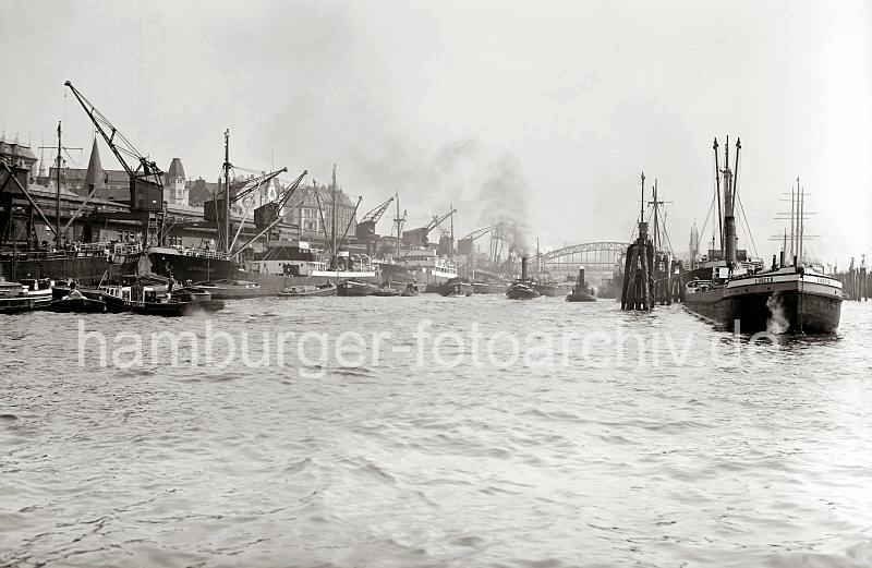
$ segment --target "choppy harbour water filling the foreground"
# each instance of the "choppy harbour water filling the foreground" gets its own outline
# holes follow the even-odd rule
[[[872,565],[872,304],[773,346],[680,306],[245,300],[87,316],[106,366],[78,322],[3,318],[0,566]]]

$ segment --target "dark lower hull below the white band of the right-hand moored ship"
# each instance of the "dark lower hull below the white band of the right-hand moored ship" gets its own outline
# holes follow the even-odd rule
[[[841,298],[798,290],[751,292],[716,300],[688,298],[687,307],[719,327],[735,330],[738,325],[743,334],[832,334],[841,317]]]

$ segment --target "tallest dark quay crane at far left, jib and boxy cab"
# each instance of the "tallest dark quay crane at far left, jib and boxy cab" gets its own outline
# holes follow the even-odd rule
[[[85,109],[85,113],[94,123],[97,132],[100,133],[100,137],[112,150],[128,176],[130,176],[130,210],[142,213],[162,212],[164,171],[158,168],[154,160],[148,159],[137,150],[71,82],[68,81],[64,85],[73,93],[82,108]]]

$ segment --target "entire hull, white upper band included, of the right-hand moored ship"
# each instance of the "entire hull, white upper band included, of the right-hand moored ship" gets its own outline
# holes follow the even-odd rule
[[[779,281],[780,280],[780,281]],[[832,334],[841,317],[841,290],[824,280],[762,277],[689,293],[687,309],[717,326],[743,334]]]

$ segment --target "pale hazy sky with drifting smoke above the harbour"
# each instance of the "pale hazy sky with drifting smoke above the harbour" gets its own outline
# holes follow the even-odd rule
[[[762,256],[797,176],[814,253],[872,246],[868,1],[7,0],[0,47],[0,130],[34,146],[60,119],[90,145],[69,78],[189,177],[218,176],[230,128],[235,165],[327,181],[337,162],[363,210],[399,190],[412,221],[453,204],[461,237],[517,215],[545,249],[627,240],[644,170],[683,252],[712,138],[740,135]]]

